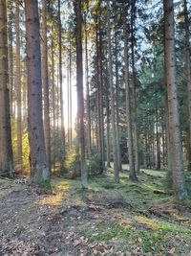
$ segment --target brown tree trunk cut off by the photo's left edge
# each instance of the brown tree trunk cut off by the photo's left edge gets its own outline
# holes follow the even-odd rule
[[[0,174],[13,177],[6,1],[0,2]]]

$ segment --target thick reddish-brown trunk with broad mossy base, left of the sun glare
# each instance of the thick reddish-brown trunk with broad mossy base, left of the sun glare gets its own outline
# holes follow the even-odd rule
[[[25,0],[27,67],[28,67],[28,122],[30,167],[33,182],[49,178],[43,119],[41,54],[37,0]]]

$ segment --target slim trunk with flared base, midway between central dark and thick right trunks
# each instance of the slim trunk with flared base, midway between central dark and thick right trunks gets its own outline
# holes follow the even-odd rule
[[[129,89],[129,60],[128,60],[128,46],[127,46],[127,25],[125,18],[125,7],[123,4],[122,11],[123,18],[123,38],[124,38],[124,60],[125,60],[125,100],[126,100],[126,114],[127,114],[127,136],[128,136],[128,155],[129,155],[129,178],[136,181],[137,175],[134,163],[134,150],[133,150],[133,135],[132,135],[132,118],[130,110],[130,89]]]

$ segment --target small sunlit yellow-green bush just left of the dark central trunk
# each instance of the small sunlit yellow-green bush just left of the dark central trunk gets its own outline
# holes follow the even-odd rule
[[[76,151],[76,149],[72,149],[68,152],[65,160],[65,169],[71,178],[80,175],[79,153]]]

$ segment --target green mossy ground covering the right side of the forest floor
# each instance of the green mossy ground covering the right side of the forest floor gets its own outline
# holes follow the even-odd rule
[[[103,195],[115,191],[133,206],[131,212],[116,209],[114,211],[116,221],[110,221],[110,219],[103,217],[103,221],[98,223],[93,223],[93,221],[88,221],[85,224],[84,222],[79,223],[76,227],[77,232],[93,244],[101,244],[101,242],[112,244],[112,240],[115,239],[117,241],[115,244],[120,244],[121,248],[126,246],[125,248],[132,252],[136,244],[143,254],[151,252],[154,255],[168,255],[167,253],[171,248],[169,244],[174,243],[177,255],[180,255],[180,250],[186,255],[190,248],[184,246],[184,243],[191,243],[190,221],[188,223],[180,221],[182,216],[179,212],[176,216],[176,211],[175,216],[172,211],[172,216],[169,218],[159,218],[157,215],[150,216],[148,209],[152,205],[170,205],[172,203],[172,206],[177,204],[179,207],[186,207],[189,211],[191,198],[188,197],[186,200],[179,201],[166,194],[164,172],[149,171],[148,174],[143,173],[139,177],[138,183],[129,182],[128,174],[121,175],[122,179],[120,179],[119,184],[114,183],[114,176],[111,173],[90,177],[89,190],[85,194],[81,190],[79,177],[65,180],[68,182],[69,194],[72,194],[72,199],[78,200],[78,202],[82,201],[82,196],[92,197],[97,191]],[[188,184],[189,182],[188,179]],[[154,191],[159,191],[161,194],[156,194]],[[87,206],[85,202],[84,205]],[[140,217],[139,221],[138,216]],[[101,217],[100,219],[102,220]],[[123,224],[121,224],[122,222]]]

